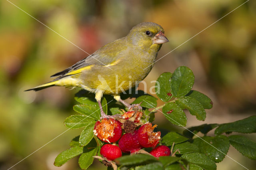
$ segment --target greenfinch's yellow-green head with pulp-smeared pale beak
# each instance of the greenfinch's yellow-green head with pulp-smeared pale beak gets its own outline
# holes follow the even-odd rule
[[[134,26],[127,35],[127,38],[132,44],[146,51],[158,51],[162,43],[169,42],[164,35],[164,29],[153,22],[143,22]]]

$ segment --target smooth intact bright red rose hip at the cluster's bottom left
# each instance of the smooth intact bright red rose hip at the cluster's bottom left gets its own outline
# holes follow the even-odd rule
[[[112,144],[103,145],[100,149],[100,154],[108,160],[114,160],[122,156],[120,148]]]

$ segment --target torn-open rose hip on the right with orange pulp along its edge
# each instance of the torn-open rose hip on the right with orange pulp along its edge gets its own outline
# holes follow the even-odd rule
[[[154,128],[157,125],[152,127],[152,123],[146,123],[138,130],[138,140],[141,146],[145,148],[155,147],[161,136],[161,132],[153,132]]]

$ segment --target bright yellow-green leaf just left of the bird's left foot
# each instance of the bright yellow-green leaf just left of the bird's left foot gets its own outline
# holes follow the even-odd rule
[[[95,105],[74,105],[73,109],[78,113],[100,120],[100,110],[99,107]]]

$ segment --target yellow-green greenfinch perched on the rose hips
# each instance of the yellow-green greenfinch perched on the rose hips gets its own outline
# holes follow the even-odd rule
[[[38,91],[52,86],[81,87],[95,93],[100,107],[101,119],[106,115],[102,109],[104,94],[113,95],[129,109],[130,105],[120,98],[120,93],[142,81],[151,71],[158,51],[163,43],[169,42],[162,26],[153,22],[142,22],[134,26],[127,36],[110,42],[88,57],[51,77],[54,80],[26,91]],[[141,108],[141,107],[140,107]]]

